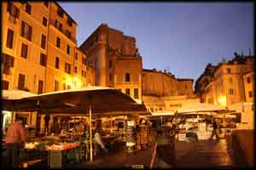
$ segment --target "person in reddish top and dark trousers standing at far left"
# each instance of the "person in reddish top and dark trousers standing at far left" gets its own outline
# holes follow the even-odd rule
[[[22,124],[22,118],[16,117],[6,133],[6,148],[7,148],[7,165],[11,168],[19,168],[20,150],[26,142],[26,131]]]

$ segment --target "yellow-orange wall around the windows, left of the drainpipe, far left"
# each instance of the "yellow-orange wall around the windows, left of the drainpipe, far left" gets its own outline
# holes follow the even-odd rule
[[[25,3],[14,3],[20,9],[19,19],[15,23],[9,20],[7,12],[7,2],[2,3],[2,35],[3,35],[3,53],[10,54],[15,57],[15,66],[11,71],[11,75],[3,75],[3,80],[9,81],[9,89],[18,88],[19,74],[26,75],[25,87],[32,93],[38,93],[38,80],[44,81],[44,66],[39,65],[40,53],[46,54],[46,50],[41,48],[41,35],[47,36],[47,28],[43,26],[43,16],[48,19],[49,9],[42,8],[43,3],[29,3],[32,6],[32,14],[26,14]],[[21,22],[25,21],[32,26],[32,41],[20,37]],[[11,28],[15,35],[13,48],[6,48],[7,30]],[[27,59],[20,57],[21,42],[28,45]]]

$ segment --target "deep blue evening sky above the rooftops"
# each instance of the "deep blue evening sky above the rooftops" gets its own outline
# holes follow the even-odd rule
[[[143,68],[194,78],[208,62],[253,51],[253,3],[60,3],[79,24],[78,45],[107,23],[136,37]]]

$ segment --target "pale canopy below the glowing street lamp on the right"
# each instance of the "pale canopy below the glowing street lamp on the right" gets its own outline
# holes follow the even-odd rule
[[[211,112],[211,111],[227,111],[224,106],[211,105],[205,103],[193,103],[183,105],[180,109],[177,109],[177,113],[189,113],[189,112]]]

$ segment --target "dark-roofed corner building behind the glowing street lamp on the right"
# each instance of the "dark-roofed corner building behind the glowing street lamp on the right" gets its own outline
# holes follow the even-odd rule
[[[252,71],[253,67],[252,56],[237,55],[230,61],[219,63],[212,74],[211,82],[203,89],[203,100],[224,106],[246,101],[242,76],[247,71]]]

